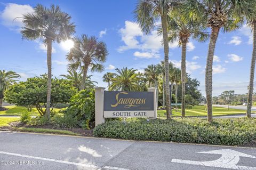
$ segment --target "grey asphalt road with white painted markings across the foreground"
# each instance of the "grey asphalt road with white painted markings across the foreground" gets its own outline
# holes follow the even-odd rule
[[[1,170],[256,169],[256,148],[16,132],[0,132],[0,143]]]

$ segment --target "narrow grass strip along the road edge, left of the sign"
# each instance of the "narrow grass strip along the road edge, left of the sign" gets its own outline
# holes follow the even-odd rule
[[[65,131],[65,130],[50,129],[50,128],[19,127],[17,128],[17,130],[20,132],[53,133],[53,134],[80,136],[78,133]]]

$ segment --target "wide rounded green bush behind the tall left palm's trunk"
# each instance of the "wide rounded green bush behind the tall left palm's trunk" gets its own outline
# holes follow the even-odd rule
[[[12,85],[6,91],[6,101],[15,103],[19,106],[24,106],[28,111],[31,111],[33,106],[36,107],[39,114],[43,116],[46,106],[47,96],[47,76],[28,78],[26,82],[20,82]],[[51,91],[51,111],[57,103],[68,103],[71,96],[76,93],[75,87],[72,86],[69,80],[65,79],[52,79]]]

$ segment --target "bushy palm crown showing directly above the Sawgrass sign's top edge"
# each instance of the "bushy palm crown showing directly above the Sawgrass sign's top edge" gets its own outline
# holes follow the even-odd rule
[[[116,72],[113,74],[112,84],[109,86],[110,91],[141,91],[141,86],[138,84],[139,77],[135,73],[133,68],[127,69],[116,69]]]

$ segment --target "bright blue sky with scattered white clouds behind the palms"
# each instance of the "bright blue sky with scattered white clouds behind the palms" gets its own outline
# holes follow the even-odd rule
[[[22,14],[33,12],[33,7],[42,4],[49,7],[59,5],[69,13],[75,22],[76,34],[96,36],[107,44],[109,55],[104,63],[105,71],[89,72],[97,86],[107,87],[102,82],[106,72],[116,68],[134,68],[142,72],[149,64],[164,59],[162,37],[157,31],[145,35],[135,22],[133,10],[136,0],[87,0],[87,1],[1,1],[0,0],[0,70],[12,70],[21,75],[21,80],[47,72],[46,47],[38,39],[22,39]],[[14,18],[16,18],[14,20]],[[69,43],[54,43],[52,53],[52,74],[59,77],[67,74],[66,55]],[[187,72],[199,80],[199,90],[205,95],[205,63],[209,41],[199,43],[189,40],[187,48]],[[244,25],[230,33],[220,33],[213,62],[213,96],[226,90],[245,94],[249,84],[252,54],[251,29]],[[169,59],[180,67],[181,48],[178,42],[170,44]],[[255,83],[254,83],[255,84]],[[256,88],[255,88],[256,89]]]

